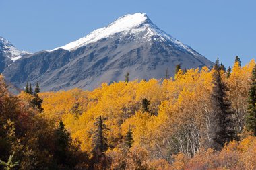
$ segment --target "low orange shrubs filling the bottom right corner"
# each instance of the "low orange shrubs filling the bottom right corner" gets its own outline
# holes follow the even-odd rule
[[[183,169],[256,169],[256,138],[248,136],[241,142],[232,141],[222,151],[211,148],[187,159]]]

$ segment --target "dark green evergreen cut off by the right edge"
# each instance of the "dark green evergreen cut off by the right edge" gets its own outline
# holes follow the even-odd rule
[[[256,65],[253,68],[253,75],[251,77],[251,88],[248,97],[248,109],[246,116],[247,130],[253,132],[256,136]]]

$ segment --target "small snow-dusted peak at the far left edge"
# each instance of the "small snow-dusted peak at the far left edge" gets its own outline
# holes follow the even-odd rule
[[[0,50],[5,53],[5,55],[10,58],[11,60],[15,61],[20,58],[22,58],[22,55],[24,54],[30,54],[26,51],[20,51],[9,40],[6,40],[5,38],[0,36]]]

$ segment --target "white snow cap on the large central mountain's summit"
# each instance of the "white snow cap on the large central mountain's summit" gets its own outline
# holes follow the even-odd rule
[[[140,37],[139,33],[141,32],[146,32],[146,34],[144,34],[143,37]],[[191,54],[195,54],[192,48],[179,42],[179,40],[173,38],[169,34],[166,34],[166,32],[163,30],[160,30],[160,28],[153,24],[153,22],[148,18],[146,13],[124,15],[123,17],[119,17],[119,19],[115,20],[115,22],[108,24],[108,26],[105,26],[104,28],[94,30],[79,40],[70,42],[65,46],[57,47],[51,51],[57,50],[59,48],[69,51],[76,50],[79,47],[97,42],[103,38],[114,36],[115,34],[120,34],[120,38],[123,38],[129,34],[136,36],[137,38],[143,38],[143,40],[150,40],[154,38],[154,40],[160,42],[170,41],[175,46],[182,48]]]

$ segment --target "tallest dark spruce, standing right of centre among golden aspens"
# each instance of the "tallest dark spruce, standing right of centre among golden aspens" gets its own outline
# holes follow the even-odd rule
[[[226,142],[236,139],[232,122],[230,101],[226,97],[228,90],[221,78],[219,60],[214,65],[213,90],[211,95],[212,113],[210,114],[211,146],[220,150]]]

